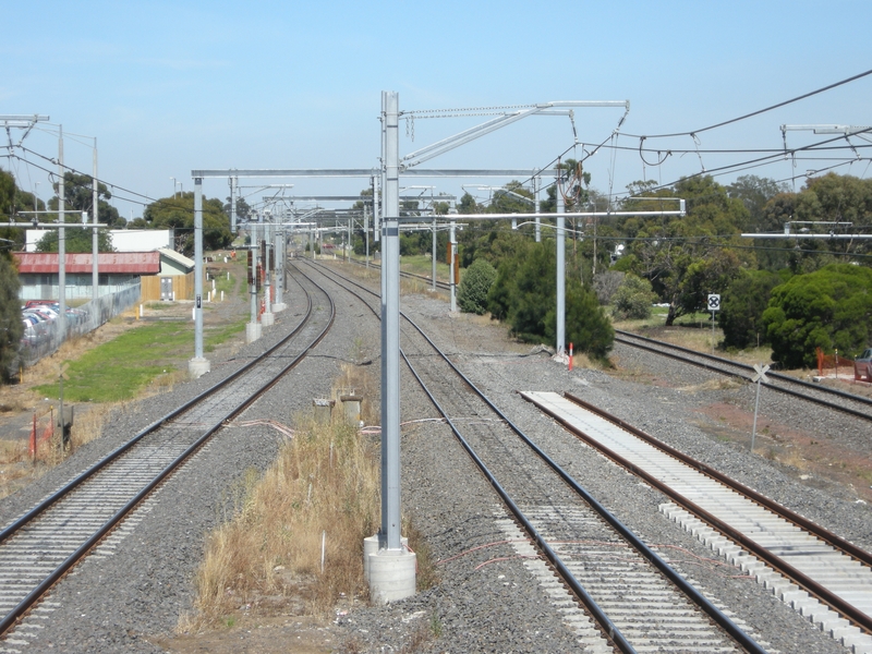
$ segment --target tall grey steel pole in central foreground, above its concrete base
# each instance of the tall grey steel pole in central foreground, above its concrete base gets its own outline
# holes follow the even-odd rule
[[[382,271],[382,531],[379,549],[400,550],[400,193],[399,94],[384,92],[385,214]]]

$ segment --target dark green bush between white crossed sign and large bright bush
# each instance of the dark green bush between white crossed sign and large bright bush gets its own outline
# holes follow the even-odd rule
[[[763,325],[772,290],[785,279],[770,270],[743,270],[720,299],[717,324],[724,330],[724,347],[744,349],[767,343]]]

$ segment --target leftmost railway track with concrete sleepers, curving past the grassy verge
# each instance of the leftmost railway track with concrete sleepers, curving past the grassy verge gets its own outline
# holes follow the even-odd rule
[[[296,282],[307,311],[278,343],[133,436],[0,531],[0,634],[228,421],[294,367],[332,325],[335,308],[312,279]],[[318,311],[318,307],[329,307]]]

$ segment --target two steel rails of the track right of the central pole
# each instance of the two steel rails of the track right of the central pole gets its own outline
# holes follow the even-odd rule
[[[332,275],[337,277],[341,277],[338,272],[330,270]],[[344,279],[344,278],[343,278]],[[375,292],[372,290],[359,284],[354,281],[346,279],[349,283],[352,283],[364,291],[376,295]],[[348,289],[347,289],[348,290]],[[354,291],[349,292],[353,293],[354,295],[360,295]],[[363,300],[361,298],[361,300]],[[375,310],[370,306],[368,303],[364,301],[364,304],[370,307],[370,310],[376,314]],[[496,413],[500,420],[512,431],[514,432],[525,445],[528,445],[535,453],[540,457],[540,459],[545,462],[556,474],[564,480],[564,482],[569,485],[591,508],[593,508],[613,529],[615,529],[642,557],[644,557],[649,562],[651,562],[655,568],[657,568],[664,577],[666,577],[669,581],[671,581],[685,595],[691,600],[694,604],[697,604],[703,613],[705,613],[712,620],[714,620],[717,625],[720,626],[724,631],[726,631],[741,647],[743,647],[748,652],[756,653],[756,654],[765,654],[765,650],[754,641],[750,635],[748,635],[738,625],[736,625],[726,614],[724,614],[720,609],[718,609],[714,604],[712,604],[702,593],[700,593],[692,584],[690,584],[681,574],[679,574],[668,562],[666,562],[657,553],[651,549],[639,536],[637,536],[629,528],[627,528],[615,514],[613,514],[607,508],[605,508],[597,499],[595,499],[583,486],[581,486],[569,473],[567,473],[556,461],[554,461],[544,450],[542,450],[533,440],[526,436],[526,434],[521,431],[509,417],[496,405],[494,402],[485,396],[473,382],[467,377],[455,364],[451,362],[450,359],[443,352],[434,342],[433,340],[424,332],[421,327],[414,320],[412,320],[409,316],[404,313],[400,312],[400,315],[405,318],[405,320],[427,341],[427,343],[436,351],[436,353],[451,367],[451,370],[462,379],[462,382],[475,393],[479,398],[484,401],[488,408]],[[378,314],[376,314],[378,317]],[[608,633],[609,639],[618,646],[621,652],[634,652],[635,650],[632,649],[629,642],[626,641],[626,638],[620,633],[620,631],[615,627],[611,620],[605,615],[605,611],[600,608],[593,597],[584,590],[584,588],[578,582],[578,580],[572,576],[568,568],[566,568],[565,564],[560,560],[557,553],[555,553],[550,546],[547,545],[545,540],[538,534],[536,529],[530,522],[530,520],[524,516],[521,509],[511,500],[508,496],[506,491],[502,486],[497,482],[494,477],[493,473],[487,469],[484,462],[477,457],[473,448],[469,445],[469,443],[462,437],[458,428],[455,426],[451,419],[448,414],[443,410],[441,405],[438,401],[433,397],[431,391],[424,385],[423,380],[417,375],[417,372],[412,366],[409,359],[405,354],[400,350],[403,360],[405,361],[407,365],[409,366],[412,374],[417,379],[419,384],[421,385],[424,392],[434,403],[436,409],[439,413],[446,419],[447,423],[451,427],[451,431],[455,433],[455,436],[461,443],[462,447],[467,450],[470,455],[470,458],[473,462],[479,467],[485,477],[488,480],[491,485],[497,492],[497,494],[504,499],[506,506],[516,517],[516,519],[524,525],[524,529],[528,531],[530,536],[533,541],[540,546],[542,552],[548,558],[548,560],[557,568],[560,574],[564,577],[564,580],[567,582],[568,585],[572,589],[580,601],[585,605],[585,607],[591,610],[595,619],[600,622],[600,626],[603,628],[604,632]],[[602,617],[602,620],[601,620]],[[628,649],[625,649],[628,647]]]

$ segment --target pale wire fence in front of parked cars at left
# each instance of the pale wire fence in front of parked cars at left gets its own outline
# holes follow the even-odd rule
[[[56,352],[68,338],[82,336],[126,311],[140,301],[140,282],[125,289],[100,295],[97,300],[66,310],[66,332],[62,334],[60,320],[40,323],[22,339],[21,361],[33,365],[43,356]]]

